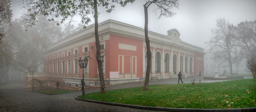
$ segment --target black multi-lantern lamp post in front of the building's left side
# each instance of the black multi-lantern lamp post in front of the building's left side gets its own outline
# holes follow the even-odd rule
[[[84,81],[84,68],[87,67],[87,64],[88,64],[88,57],[85,57],[84,60],[82,60],[81,58],[79,58],[78,60],[78,64],[80,66],[80,68],[83,69],[83,80],[81,80],[81,84],[82,84],[82,89],[81,91],[83,92],[83,96],[85,95],[85,81]]]

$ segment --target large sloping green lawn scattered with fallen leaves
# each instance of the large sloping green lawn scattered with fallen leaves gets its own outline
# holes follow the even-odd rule
[[[169,108],[249,108],[256,107],[256,79],[214,83],[150,85],[87,93],[85,98],[116,103]]]

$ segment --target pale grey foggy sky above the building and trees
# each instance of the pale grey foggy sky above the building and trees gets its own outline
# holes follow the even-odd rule
[[[13,19],[19,18],[24,12],[18,4],[18,0],[12,2]],[[99,7],[98,11],[101,13],[98,22],[112,19],[144,28],[143,4],[145,0],[137,0],[125,8],[116,4],[111,13]],[[216,19],[224,17],[233,25],[256,19],[256,0],[180,0],[179,9],[173,9],[176,15],[159,20],[153,12],[154,7],[155,5],[150,5],[148,9],[148,30],[167,35],[167,30],[177,29],[182,41],[202,48],[205,48],[204,42],[211,37],[210,29],[215,28]],[[80,23],[79,17],[76,20],[72,24]],[[94,19],[91,20],[89,25],[94,23]]]

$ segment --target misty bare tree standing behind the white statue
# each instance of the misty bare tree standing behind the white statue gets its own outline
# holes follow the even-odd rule
[[[241,61],[239,48],[234,44],[234,34],[231,31],[230,23],[225,18],[216,20],[216,27],[211,29],[213,37],[206,44],[210,46],[210,52],[213,52],[213,60],[223,63],[228,62],[230,74],[232,74],[232,64]]]

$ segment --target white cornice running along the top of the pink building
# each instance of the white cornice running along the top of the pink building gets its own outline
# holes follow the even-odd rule
[[[143,28],[129,25],[123,22],[118,22],[115,20],[106,20],[104,22],[99,23],[98,33],[99,33],[99,36],[113,34],[113,35],[125,36],[129,38],[145,41]],[[167,46],[168,45],[175,46],[178,49],[184,49],[184,50],[205,54],[203,52],[203,48],[188,44],[181,40],[173,41],[171,40],[169,35],[165,36],[156,32],[148,31],[148,37],[149,37],[150,43],[164,44],[164,45],[166,44]],[[57,42],[47,46],[44,50],[46,54],[51,54],[50,52],[55,51],[55,49],[61,48],[63,46],[68,46],[72,43],[75,43],[84,39],[89,39],[89,38],[94,38],[94,24],[89,25],[86,29],[81,29],[65,38],[58,40]]]

